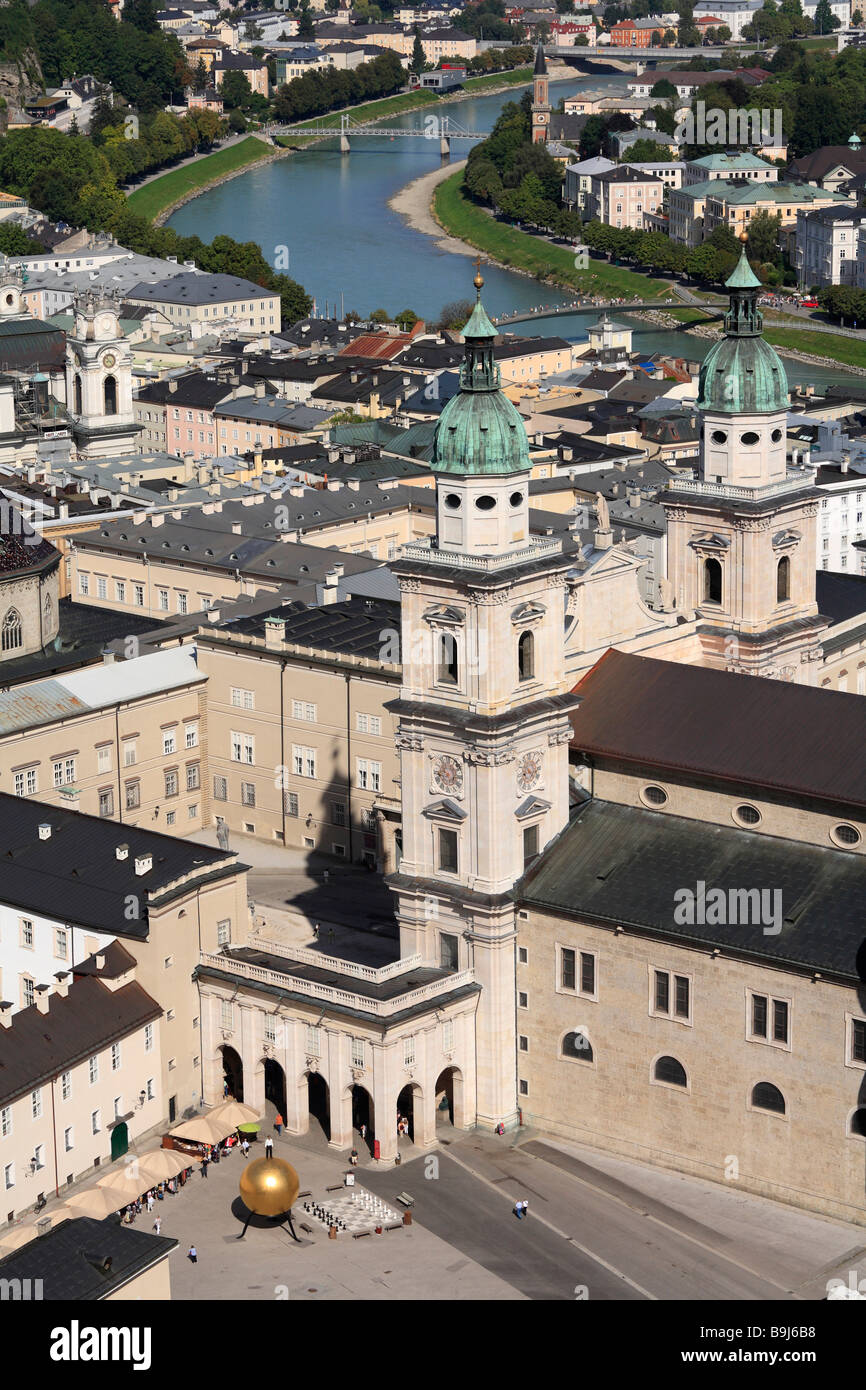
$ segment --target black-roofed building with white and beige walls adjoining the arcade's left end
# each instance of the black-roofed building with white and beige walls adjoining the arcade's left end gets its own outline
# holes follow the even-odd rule
[[[39,986],[68,967],[58,959],[57,933],[67,933],[71,958],[81,940],[93,955],[118,938],[136,962],[138,983],[164,1012],[154,1070],[164,1113],[174,1123],[197,1108],[202,1036],[192,976],[200,951],[246,940],[246,866],[209,845],[6,794],[0,837],[7,847],[0,878],[4,995],[19,995],[13,967],[22,923],[42,924],[26,970],[33,999]]]

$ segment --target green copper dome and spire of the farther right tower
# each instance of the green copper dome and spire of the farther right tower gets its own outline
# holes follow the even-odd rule
[[[788,378],[781,357],[762,338],[760,281],[752,272],[745,243],[726,289],[731,304],[724,316],[724,338],[703,359],[698,409],[731,416],[787,410]]]

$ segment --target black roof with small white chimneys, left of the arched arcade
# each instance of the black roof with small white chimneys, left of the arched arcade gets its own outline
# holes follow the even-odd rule
[[[40,824],[51,827],[49,840],[39,838]],[[128,858],[118,859],[124,844]],[[143,853],[153,856],[153,867],[136,874]],[[239,867],[234,852],[0,792],[0,899],[25,912],[146,938],[149,897],[186,874],[234,874]],[[129,894],[142,899],[133,922],[125,916]]]

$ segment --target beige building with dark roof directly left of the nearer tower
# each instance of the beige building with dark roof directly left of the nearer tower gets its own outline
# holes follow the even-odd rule
[[[382,869],[399,820],[399,605],[275,606],[199,628],[209,677],[211,820]],[[381,816],[379,816],[381,810]]]

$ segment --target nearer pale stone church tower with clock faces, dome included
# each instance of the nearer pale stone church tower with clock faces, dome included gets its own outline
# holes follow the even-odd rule
[[[402,955],[473,969],[477,1123],[517,1122],[512,890],[569,817],[562,543],[530,537],[530,453],[478,302],[432,470],[436,535],[403,548]]]

